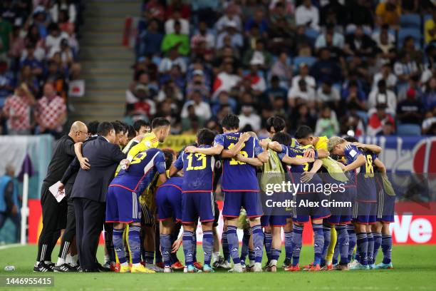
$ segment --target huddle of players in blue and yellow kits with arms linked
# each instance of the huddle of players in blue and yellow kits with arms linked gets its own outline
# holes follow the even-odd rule
[[[276,272],[282,230],[285,271],[393,267],[389,224],[395,193],[378,159],[380,147],[351,137],[316,137],[307,126],[292,138],[284,133],[285,122],[279,117],[266,121],[270,138],[260,141],[256,133],[240,133],[239,118],[233,114],[225,116],[221,126],[222,134],[200,129],[196,144],[176,155],[171,149],[157,148],[170,133],[170,123],[155,118],[151,132],[125,146],[127,159],[121,161],[106,196],[105,246],[111,270]],[[297,206],[277,212],[265,207],[262,194],[270,173],[281,173],[294,185],[329,183],[343,190],[328,196],[319,190],[283,193],[282,199],[289,198]],[[219,180],[224,193],[222,233],[217,228],[214,195]],[[352,206],[329,207],[320,203],[324,199]],[[198,223],[203,263],[197,261]],[[308,223],[313,229],[314,257],[311,264],[300,267],[303,228]],[[241,247],[238,228],[244,232]],[[185,265],[176,255],[180,245]],[[375,265],[380,247],[383,262]],[[262,267],[264,249],[267,262]],[[58,271],[71,269],[58,267]]]

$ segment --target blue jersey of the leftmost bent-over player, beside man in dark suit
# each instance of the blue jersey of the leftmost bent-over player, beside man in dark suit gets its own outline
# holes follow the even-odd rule
[[[157,173],[165,173],[165,156],[162,150],[150,148],[135,155],[129,168],[120,170],[109,187],[122,187],[140,195],[155,180]]]

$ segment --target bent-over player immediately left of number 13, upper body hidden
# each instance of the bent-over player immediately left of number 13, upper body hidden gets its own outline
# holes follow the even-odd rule
[[[160,222],[160,251],[166,273],[172,272],[172,229],[176,222],[182,221],[182,186],[182,177],[172,177],[156,190],[157,219]]]

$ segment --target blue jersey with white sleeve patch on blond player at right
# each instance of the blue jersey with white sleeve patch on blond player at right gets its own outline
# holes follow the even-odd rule
[[[373,165],[377,155],[369,150],[360,150],[360,148],[353,146],[352,144],[346,146],[345,157],[348,164],[353,163],[359,155],[363,155],[363,157],[365,157],[365,165],[360,166],[360,171],[355,180],[355,183],[358,187],[358,200],[365,202],[377,202],[377,190],[375,188]]]

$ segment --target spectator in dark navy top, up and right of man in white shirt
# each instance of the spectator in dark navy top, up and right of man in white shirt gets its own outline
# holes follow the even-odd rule
[[[342,80],[341,67],[338,66],[338,63],[331,60],[330,50],[328,48],[321,48],[319,55],[320,58],[311,68],[311,76],[316,79],[317,83],[321,83],[324,80],[339,83]]]

